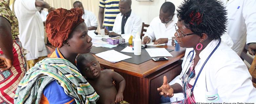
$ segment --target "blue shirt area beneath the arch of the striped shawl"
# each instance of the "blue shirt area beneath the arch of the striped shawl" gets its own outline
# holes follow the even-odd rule
[[[43,94],[48,99],[49,104],[64,104],[74,99],[64,92],[63,87],[61,87],[56,80],[53,80],[45,86]],[[74,102],[75,100],[70,104]]]

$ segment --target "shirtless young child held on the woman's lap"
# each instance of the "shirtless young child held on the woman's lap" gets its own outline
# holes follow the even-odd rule
[[[112,70],[101,70],[99,62],[90,53],[79,54],[76,61],[81,74],[100,96],[97,104],[128,104],[123,101],[125,80],[120,74]],[[113,80],[119,83],[118,92]]]

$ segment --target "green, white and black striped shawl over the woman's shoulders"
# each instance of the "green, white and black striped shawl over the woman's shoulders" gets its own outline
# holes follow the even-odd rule
[[[99,96],[93,87],[71,62],[61,58],[36,63],[19,83],[14,104],[39,104],[44,87],[54,79],[77,104],[96,104]]]

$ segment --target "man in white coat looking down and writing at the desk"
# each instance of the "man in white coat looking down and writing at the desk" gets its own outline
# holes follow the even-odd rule
[[[167,43],[174,37],[176,32],[174,24],[178,18],[175,15],[175,6],[171,2],[165,2],[160,8],[159,16],[155,17],[147,28],[143,42],[149,43],[155,40],[154,44]]]

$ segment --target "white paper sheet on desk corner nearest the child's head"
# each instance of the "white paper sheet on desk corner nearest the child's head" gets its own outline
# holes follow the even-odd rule
[[[111,63],[116,63],[128,58],[132,58],[131,56],[125,55],[115,50],[109,50],[109,51],[101,52],[95,55]]]

